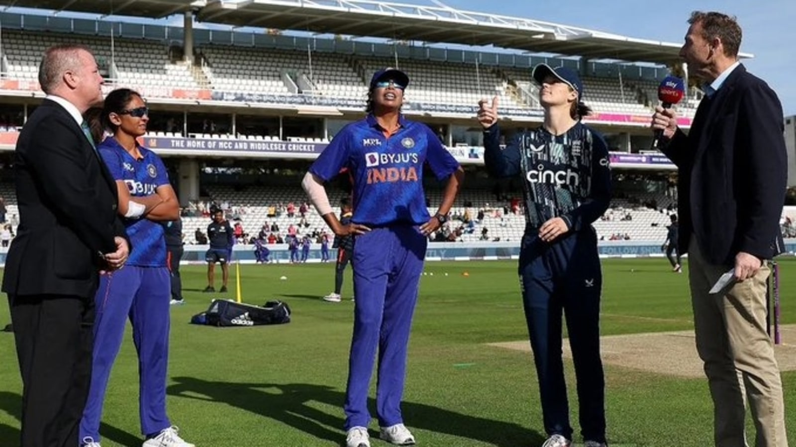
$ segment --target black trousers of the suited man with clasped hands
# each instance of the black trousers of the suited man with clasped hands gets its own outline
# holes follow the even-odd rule
[[[80,445],[94,297],[9,295],[9,305],[22,375],[21,447]]]

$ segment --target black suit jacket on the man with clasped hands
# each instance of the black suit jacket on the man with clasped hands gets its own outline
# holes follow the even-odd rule
[[[100,254],[116,251],[114,237],[127,234],[116,182],[60,104],[45,99],[25,122],[14,177],[20,224],[2,290],[93,297],[107,268]]]

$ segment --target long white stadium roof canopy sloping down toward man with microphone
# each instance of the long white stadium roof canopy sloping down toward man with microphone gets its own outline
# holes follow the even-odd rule
[[[671,64],[681,44],[548,21],[373,0],[209,0],[201,21],[406,41],[499,46],[591,59]],[[742,57],[751,54],[742,53]]]

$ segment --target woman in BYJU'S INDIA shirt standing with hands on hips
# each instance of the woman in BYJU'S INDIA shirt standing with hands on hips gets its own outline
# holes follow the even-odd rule
[[[404,426],[409,328],[423,271],[427,235],[447,220],[464,171],[423,123],[400,113],[409,78],[394,68],[373,75],[368,115],[345,126],[306,173],[302,186],[318,214],[334,231],[354,235],[353,337],[345,391],[348,447],[369,447],[368,390],[379,352],[377,415],[380,437],[392,444],[415,443]],[[423,165],[440,180],[448,177],[443,201],[430,216],[423,192]],[[353,179],[353,216],[342,225],[323,183],[344,167]]]

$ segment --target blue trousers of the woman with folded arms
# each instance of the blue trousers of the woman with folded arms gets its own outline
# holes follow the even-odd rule
[[[80,422],[80,440],[100,441],[102,406],[111,367],[119,354],[125,321],[133,325],[139,353],[141,433],[149,436],[171,426],[166,416],[166,367],[169,363],[171,279],[166,267],[125,266],[100,277],[94,322],[94,360],[88,402]]]

